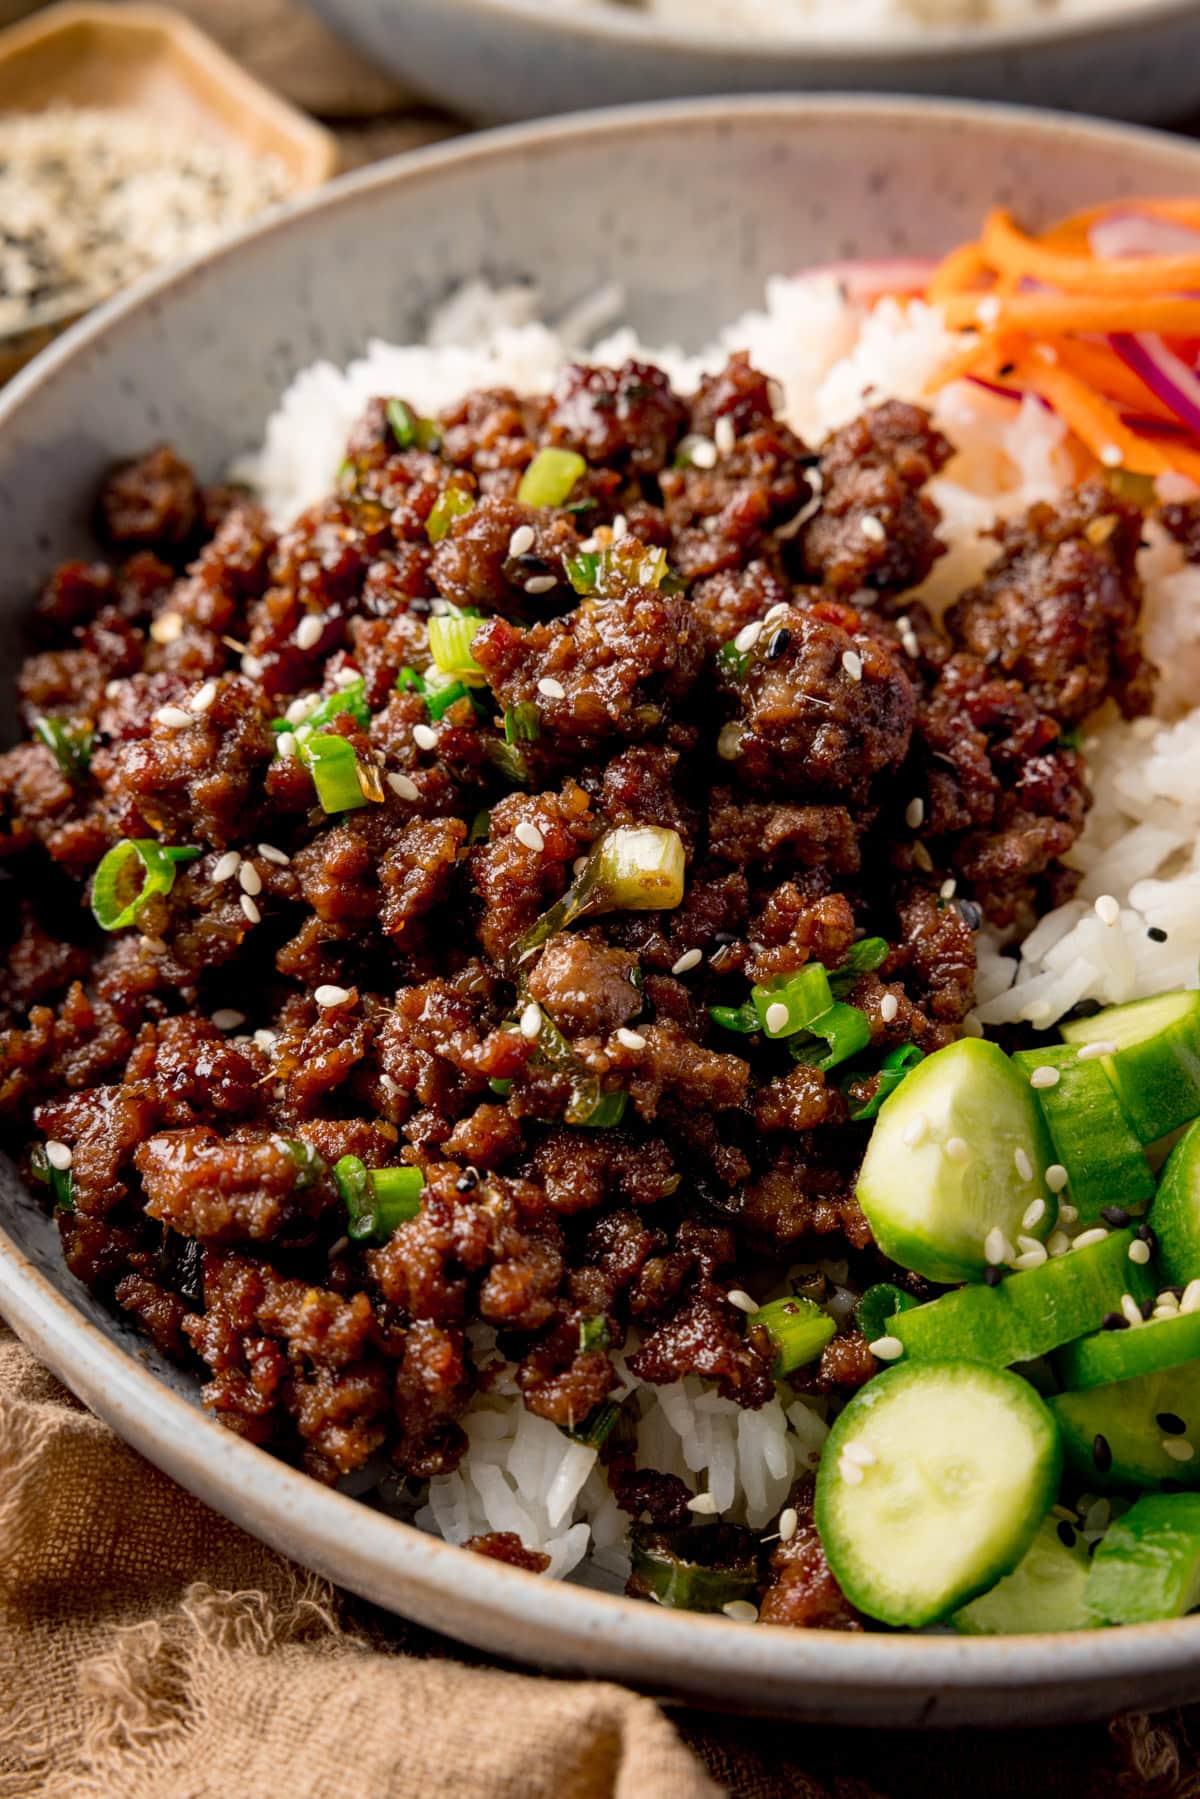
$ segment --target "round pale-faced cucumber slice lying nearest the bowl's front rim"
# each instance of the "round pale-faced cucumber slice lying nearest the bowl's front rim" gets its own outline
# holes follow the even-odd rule
[[[896,1367],[855,1394],[826,1439],[817,1531],[851,1605],[918,1628],[1016,1567],[1060,1473],[1054,1421],[1018,1374]]]

